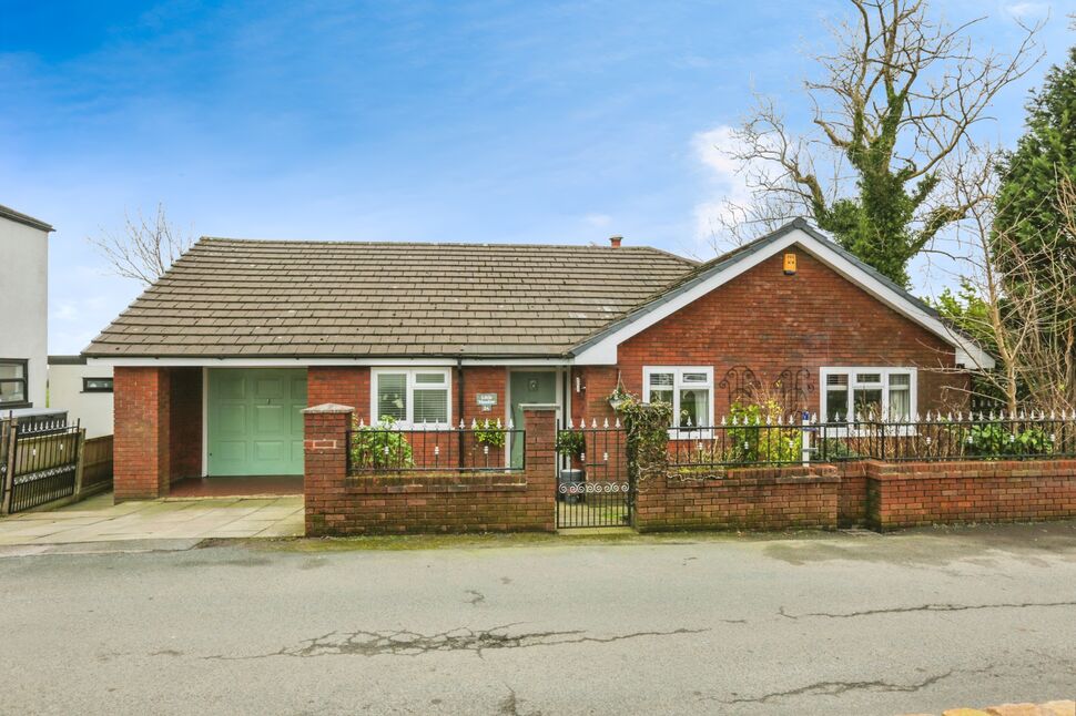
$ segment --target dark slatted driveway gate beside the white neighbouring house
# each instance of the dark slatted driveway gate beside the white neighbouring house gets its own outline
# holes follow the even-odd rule
[[[65,421],[18,425],[0,466],[7,512],[22,512],[74,494],[81,429]],[[10,473],[10,474],[9,474]]]

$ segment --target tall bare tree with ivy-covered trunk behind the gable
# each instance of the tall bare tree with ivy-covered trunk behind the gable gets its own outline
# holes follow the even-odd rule
[[[944,165],[987,119],[997,93],[1042,57],[1041,25],[1021,25],[1012,54],[973,47],[971,30],[932,20],[925,0],[850,0],[830,27],[832,52],[804,82],[814,131],[793,133],[775,104],[758,106],[725,147],[741,165],[751,201],[724,212],[762,231],[812,216],[847,249],[897,283],[968,205],[937,191]],[[742,227],[731,232],[743,237]]]

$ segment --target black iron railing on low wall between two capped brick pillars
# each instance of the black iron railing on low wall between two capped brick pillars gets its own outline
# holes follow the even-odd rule
[[[526,432],[511,423],[399,428],[362,422],[347,432],[347,473],[512,472],[526,469]],[[518,442],[517,442],[518,441]],[[515,454],[514,454],[515,453]]]

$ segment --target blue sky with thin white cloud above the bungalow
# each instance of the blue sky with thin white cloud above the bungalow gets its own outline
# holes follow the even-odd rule
[[[1072,0],[1070,0],[1072,1]],[[1076,2],[948,0],[1012,47],[1052,13],[1047,62],[1007,90],[995,143],[1076,33]],[[141,290],[87,237],[124,212],[195,235],[626,242],[706,256],[734,180],[707,132],[751,92],[806,117],[819,2],[206,3],[0,0],[0,204],[57,226],[50,352],[78,352]],[[917,286],[926,290],[926,286]]]

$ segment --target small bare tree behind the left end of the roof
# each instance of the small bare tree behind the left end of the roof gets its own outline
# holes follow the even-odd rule
[[[183,252],[194,245],[191,235],[180,234],[158,204],[156,214],[146,218],[140,211],[136,218],[124,214],[119,233],[102,229],[89,237],[90,244],[108,259],[113,273],[140,280],[146,286],[160,278]]]

